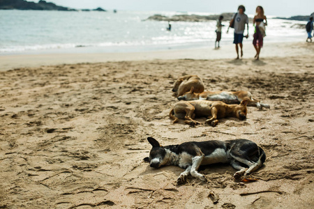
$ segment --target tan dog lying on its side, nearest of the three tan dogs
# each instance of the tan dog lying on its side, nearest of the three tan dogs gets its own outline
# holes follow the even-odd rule
[[[201,124],[194,121],[195,116],[205,116],[209,119],[205,123],[216,126],[218,118],[234,117],[240,120],[246,119],[248,110],[246,109],[248,100],[243,100],[240,104],[225,104],[224,102],[212,102],[207,100],[195,100],[188,102],[178,102],[170,111],[170,118],[173,123],[177,123],[179,118],[185,119],[184,123],[189,125]]]

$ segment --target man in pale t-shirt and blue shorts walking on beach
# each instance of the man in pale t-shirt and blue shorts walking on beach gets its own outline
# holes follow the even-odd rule
[[[241,49],[241,57],[243,56],[243,38],[248,38],[248,34],[244,36],[244,29],[247,27],[248,29],[248,15],[244,14],[246,8],[243,5],[238,7],[238,12],[232,16],[232,20],[230,20],[229,27],[227,29],[227,33],[229,32],[229,28],[234,28],[234,40],[233,43],[236,45],[237,51],[237,59],[239,59],[239,46]]]

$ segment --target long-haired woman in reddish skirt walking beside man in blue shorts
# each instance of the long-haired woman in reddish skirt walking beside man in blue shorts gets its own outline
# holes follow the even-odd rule
[[[263,46],[263,39],[266,36],[265,26],[267,26],[267,19],[264,15],[262,6],[257,6],[256,15],[253,18],[253,25],[255,25],[255,33],[253,35],[253,45],[256,50],[255,59],[260,59],[260,49]]]

